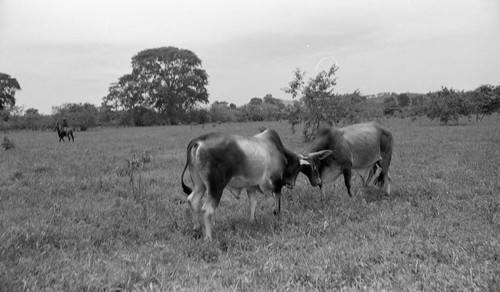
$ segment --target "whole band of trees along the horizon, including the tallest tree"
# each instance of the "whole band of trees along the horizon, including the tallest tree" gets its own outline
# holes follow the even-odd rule
[[[352,124],[382,116],[426,116],[444,124],[460,116],[476,121],[500,109],[500,86],[482,85],[471,91],[443,87],[427,94],[385,93],[368,97],[355,91],[336,93],[339,67],[320,71],[312,78],[297,68],[282,90],[292,101],[267,94],[243,106],[225,101],[209,104],[208,74],[201,59],[186,49],[146,49],[132,57],[132,70],[110,84],[101,106],[70,103],[54,107],[51,115],[37,109],[16,107],[19,82],[0,73],[0,130],[53,129],[66,118],[69,125],[85,131],[96,126],[154,126],[225,122],[288,120],[292,130],[303,123],[304,139],[314,137],[319,124]]]

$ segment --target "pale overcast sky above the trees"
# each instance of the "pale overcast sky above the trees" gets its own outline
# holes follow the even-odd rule
[[[138,52],[194,52],[209,101],[272,94],[332,64],[338,93],[500,85],[498,0],[0,0],[0,72],[16,105],[99,106]]]

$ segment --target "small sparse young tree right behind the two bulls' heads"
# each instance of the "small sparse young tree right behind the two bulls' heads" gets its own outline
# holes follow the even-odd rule
[[[300,100],[304,105],[303,137],[305,141],[310,141],[316,135],[316,130],[323,121],[337,121],[335,118],[340,109],[338,96],[333,94],[333,89],[337,85],[335,73],[338,67],[334,64],[327,71],[321,71],[315,78],[304,83],[305,73],[300,69],[294,71],[294,79],[283,88],[283,91],[290,93],[292,98],[300,95]],[[291,121],[290,121],[291,123]]]

